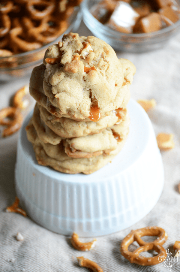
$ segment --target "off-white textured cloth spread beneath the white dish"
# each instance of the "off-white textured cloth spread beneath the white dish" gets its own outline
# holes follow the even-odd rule
[[[91,35],[83,23],[79,28],[79,35]],[[119,58],[131,60],[137,68],[134,82],[131,85],[131,97],[135,100],[154,98],[157,101],[157,106],[148,115],[156,134],[159,132],[175,134],[175,148],[161,153],[165,170],[165,184],[163,193],[153,210],[128,229],[98,237],[95,248],[90,252],[79,252],[73,249],[69,237],[48,231],[28,217],[5,212],[5,208],[13,203],[16,195],[14,165],[18,133],[9,138],[0,139],[0,271],[87,271],[86,268],[79,267],[76,256],[84,256],[96,261],[104,272],[167,272],[170,268],[171,271],[180,271],[180,258],[179,261],[171,262],[173,266],[170,268],[165,267],[164,263],[143,267],[131,264],[119,252],[122,239],[131,229],[148,225],[160,226],[165,229],[168,240],[164,247],[172,252],[169,256],[175,255],[173,244],[176,240],[180,240],[180,194],[178,192],[180,181],[179,52],[180,34],[172,38],[170,43],[161,50],[142,54],[117,53]],[[26,83],[29,83],[29,77],[9,83],[1,82],[0,108],[9,105],[13,93]],[[17,232],[24,236],[23,241],[16,240]],[[81,240],[88,241],[90,239]]]

